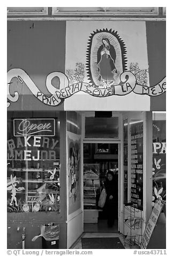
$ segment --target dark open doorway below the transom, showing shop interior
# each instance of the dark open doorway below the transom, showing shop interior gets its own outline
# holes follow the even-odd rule
[[[84,143],[84,232],[118,232],[119,144],[100,141]],[[107,174],[114,175],[114,200],[98,206]],[[114,219],[110,226],[108,219]]]

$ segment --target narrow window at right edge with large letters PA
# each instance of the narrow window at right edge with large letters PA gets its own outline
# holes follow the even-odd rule
[[[159,114],[159,113],[158,113]],[[153,118],[153,200],[166,201],[166,120]]]

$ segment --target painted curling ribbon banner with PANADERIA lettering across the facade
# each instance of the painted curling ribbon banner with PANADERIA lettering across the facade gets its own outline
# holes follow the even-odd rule
[[[17,77],[20,83],[25,83],[39,101],[49,106],[57,106],[61,104],[65,98],[68,98],[79,91],[84,91],[84,93],[95,97],[107,97],[111,95],[123,96],[132,92],[140,95],[158,96],[166,92],[166,77],[155,86],[147,87],[138,84],[136,77],[132,72],[125,71],[120,76],[121,82],[119,84],[113,84],[109,88],[95,88],[91,84],[85,82],[70,85],[65,74],[61,72],[53,72],[50,73],[46,79],[46,87],[51,95],[48,97],[39,90],[24,70],[14,68],[7,72],[7,108],[10,106],[11,102],[17,102],[19,98],[19,93],[17,91],[15,91],[14,95],[10,94],[10,84],[13,77]],[[59,89],[54,87],[51,83],[54,77],[58,77],[59,79]]]

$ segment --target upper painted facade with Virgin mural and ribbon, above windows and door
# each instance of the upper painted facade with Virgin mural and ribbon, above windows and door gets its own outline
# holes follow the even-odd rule
[[[9,21],[7,31],[9,110],[166,109],[163,21]]]

